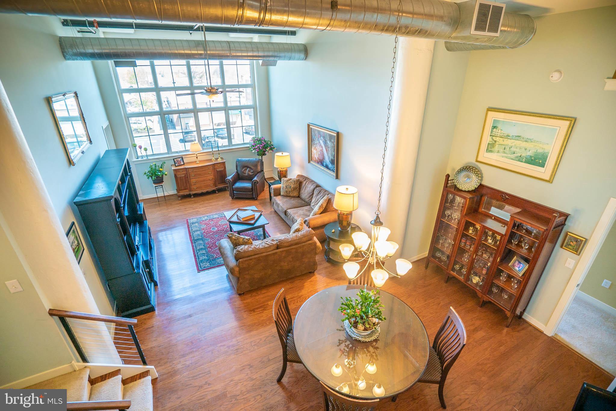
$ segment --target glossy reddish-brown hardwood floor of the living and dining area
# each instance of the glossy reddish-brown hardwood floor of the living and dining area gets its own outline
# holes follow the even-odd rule
[[[238,296],[224,267],[197,273],[186,218],[237,207],[257,206],[270,221],[271,235],[289,227],[270,206],[231,200],[226,191],[166,201],[145,201],[156,241],[160,273],[155,313],[137,317],[139,341],[148,364],[155,365],[156,410],[315,410],[323,408],[318,381],[301,364],[289,364],[281,383],[280,341],[272,302],[285,287],[291,314],[318,290],[346,284],[340,266],[317,257],[318,270]],[[568,410],[583,381],[607,387],[612,377],[525,321],[505,328],[503,311],[477,306],[472,290],[458,281],[444,283],[434,265],[416,261],[401,279],[383,289],[415,310],[432,341],[449,306],[460,314],[468,343],[445,383],[450,410]],[[324,308],[326,309],[326,308]],[[336,307],[331,307],[336,309]],[[440,410],[437,386],[416,384],[397,402],[379,410]]]

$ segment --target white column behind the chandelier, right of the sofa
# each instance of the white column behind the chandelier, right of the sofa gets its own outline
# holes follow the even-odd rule
[[[381,220],[389,239],[403,249],[415,175],[434,40],[400,38],[394,78],[392,116],[387,144]],[[405,258],[399,253],[394,258]]]

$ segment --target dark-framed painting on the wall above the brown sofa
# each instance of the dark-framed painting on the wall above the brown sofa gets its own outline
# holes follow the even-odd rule
[[[308,162],[338,180],[339,132],[308,124]]]

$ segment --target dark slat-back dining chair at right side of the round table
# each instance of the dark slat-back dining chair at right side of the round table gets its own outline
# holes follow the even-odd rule
[[[419,383],[438,384],[440,406],[447,408],[443,396],[443,387],[447,373],[453,363],[458,359],[460,352],[466,345],[466,330],[456,310],[449,307],[445,321],[434,336],[434,343],[429,348],[428,365],[423,375],[419,377]]]

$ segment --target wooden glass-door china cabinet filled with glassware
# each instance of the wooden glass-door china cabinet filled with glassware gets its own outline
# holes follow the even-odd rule
[[[479,185],[461,191],[445,176],[426,268],[436,263],[513,317],[524,314],[569,214]]]

